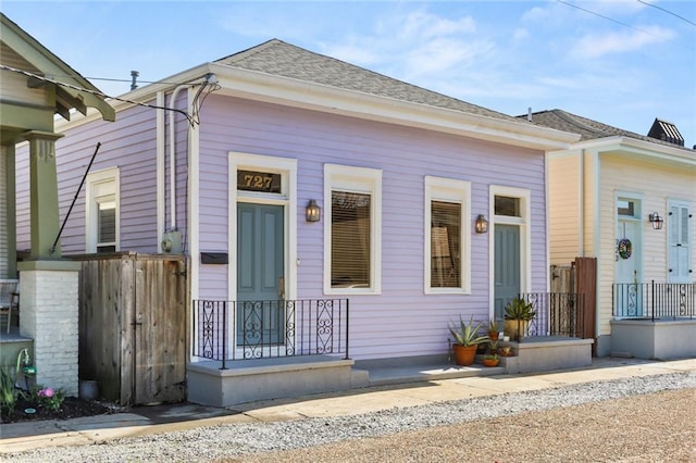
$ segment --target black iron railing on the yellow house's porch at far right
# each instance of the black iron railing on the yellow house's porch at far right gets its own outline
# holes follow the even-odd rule
[[[696,318],[696,283],[617,283],[612,314],[618,318]]]

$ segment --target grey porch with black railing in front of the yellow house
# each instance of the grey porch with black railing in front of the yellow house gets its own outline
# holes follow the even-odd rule
[[[612,315],[612,356],[696,356],[696,284],[614,284]]]

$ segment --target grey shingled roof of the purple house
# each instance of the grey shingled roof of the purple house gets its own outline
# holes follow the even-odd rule
[[[231,54],[215,63],[411,103],[519,122],[510,115],[426,90],[278,39]]]

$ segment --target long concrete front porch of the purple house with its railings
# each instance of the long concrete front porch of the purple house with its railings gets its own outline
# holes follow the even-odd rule
[[[228,406],[264,399],[373,386],[587,366],[593,339],[577,335],[576,295],[534,295],[536,336],[510,346],[499,366],[455,365],[449,352],[418,358],[349,358],[349,302],[194,301],[194,362],[188,400]],[[236,315],[233,315],[236,314]],[[542,336],[543,331],[543,336]]]

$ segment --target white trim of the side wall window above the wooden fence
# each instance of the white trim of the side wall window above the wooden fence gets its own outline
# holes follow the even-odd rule
[[[116,251],[121,250],[121,171],[116,167],[104,168],[87,174],[85,190],[85,252],[97,252],[97,221],[99,220],[99,198],[110,197],[116,204]],[[113,192],[98,195],[99,187],[113,184]]]

